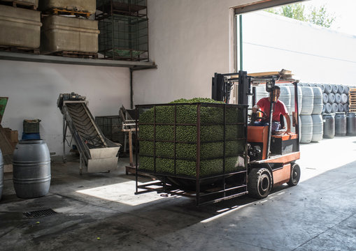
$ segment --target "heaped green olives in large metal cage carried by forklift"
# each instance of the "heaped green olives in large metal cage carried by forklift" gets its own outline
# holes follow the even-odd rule
[[[204,178],[247,168],[246,106],[194,98],[136,112],[140,172]]]

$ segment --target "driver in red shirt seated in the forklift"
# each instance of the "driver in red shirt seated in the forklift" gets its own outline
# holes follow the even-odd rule
[[[287,130],[285,131],[285,134],[290,134],[290,116],[287,112],[287,108],[285,107],[285,104],[278,100],[280,96],[280,87],[275,86],[274,89],[274,96],[276,98],[276,102],[274,104],[274,110],[273,110],[273,115],[272,115],[272,132],[275,132],[276,130],[283,129],[280,126],[280,114],[282,114],[285,117],[285,120],[287,121]],[[262,110],[267,116],[266,119],[261,121],[262,125],[265,125],[266,123],[269,123],[269,105],[271,102],[271,94],[269,98],[261,98],[257,104],[252,107],[252,112],[256,113],[258,109]]]

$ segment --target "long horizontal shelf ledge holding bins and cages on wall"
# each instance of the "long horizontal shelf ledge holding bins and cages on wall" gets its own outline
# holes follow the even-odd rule
[[[47,56],[36,54],[24,54],[15,52],[0,52],[0,60],[26,61],[37,63],[64,63],[82,66],[110,66],[124,67],[132,70],[145,70],[157,68],[155,62],[143,61],[116,61],[107,59],[76,59],[64,56]]]

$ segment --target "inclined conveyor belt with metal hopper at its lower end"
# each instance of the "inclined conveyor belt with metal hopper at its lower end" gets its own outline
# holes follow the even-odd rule
[[[64,117],[64,141],[66,128],[69,128],[87,172],[106,172],[116,169],[120,144],[106,139],[99,130],[87,107],[85,97],[75,93],[61,94],[58,107]]]

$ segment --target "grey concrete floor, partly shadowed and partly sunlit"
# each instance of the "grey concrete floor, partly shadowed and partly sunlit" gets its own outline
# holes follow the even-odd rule
[[[50,192],[0,201],[0,250],[356,250],[356,137],[301,145],[301,181],[201,208],[185,197],[134,195],[127,158],[110,174],[52,162]],[[54,158],[55,159],[55,158]],[[144,178],[141,178],[143,181]],[[52,208],[55,215],[23,213]]]

